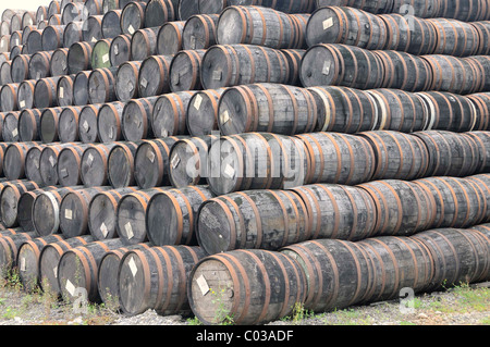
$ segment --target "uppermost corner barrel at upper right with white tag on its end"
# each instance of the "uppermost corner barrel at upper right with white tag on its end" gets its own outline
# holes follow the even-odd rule
[[[343,44],[366,49],[383,49],[389,37],[380,16],[335,5],[317,9],[308,20],[305,35],[309,47]]]

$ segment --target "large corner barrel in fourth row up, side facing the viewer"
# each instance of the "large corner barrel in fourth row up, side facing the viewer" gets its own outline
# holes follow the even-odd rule
[[[218,106],[222,135],[266,132],[283,135],[320,131],[314,96],[305,88],[254,84],[228,88]]]

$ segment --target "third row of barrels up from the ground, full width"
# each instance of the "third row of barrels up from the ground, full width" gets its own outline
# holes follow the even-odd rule
[[[209,184],[217,195],[488,173],[489,133],[246,133],[109,144],[2,142],[2,175],[63,187]]]

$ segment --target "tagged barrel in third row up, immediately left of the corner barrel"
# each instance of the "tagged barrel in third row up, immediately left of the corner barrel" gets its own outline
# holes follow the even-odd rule
[[[176,188],[206,184],[210,170],[208,150],[219,138],[204,135],[177,140],[171,148],[168,176]]]

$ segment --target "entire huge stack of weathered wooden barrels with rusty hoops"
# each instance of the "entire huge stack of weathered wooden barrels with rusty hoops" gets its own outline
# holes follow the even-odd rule
[[[53,0],[1,35],[27,290],[261,324],[490,280],[488,0]]]

